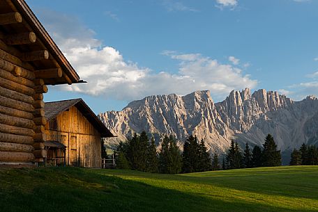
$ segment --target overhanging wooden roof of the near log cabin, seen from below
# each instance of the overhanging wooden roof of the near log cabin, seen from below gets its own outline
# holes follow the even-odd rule
[[[79,76],[72,65],[70,65],[24,0],[0,0],[1,17],[12,14],[18,15],[19,18],[17,19],[19,20],[0,25],[0,50],[4,52],[3,54],[8,52],[10,55],[13,55],[13,58],[1,57],[1,59],[7,60],[10,63],[13,63],[12,60],[14,60],[16,65],[20,65],[31,71],[61,69],[62,76],[50,76],[44,79],[47,85],[84,82],[79,80]],[[34,40],[33,42],[24,44],[12,44],[8,42],[7,38],[13,38],[15,35],[29,35],[29,33],[36,35],[35,42]],[[24,59],[23,56],[25,54],[36,51],[46,52],[46,58],[32,61]]]

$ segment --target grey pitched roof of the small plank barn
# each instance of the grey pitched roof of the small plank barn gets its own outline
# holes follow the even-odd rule
[[[45,102],[45,117],[48,121],[54,119],[60,113],[67,111],[70,107],[75,106],[91,124],[100,132],[103,138],[114,137],[114,135],[105,127],[105,124],[91,111],[91,108],[83,99],[69,99],[62,101]]]

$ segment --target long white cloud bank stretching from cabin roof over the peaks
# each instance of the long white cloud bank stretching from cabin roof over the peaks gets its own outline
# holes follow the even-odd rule
[[[81,79],[88,81],[59,85],[53,87],[55,89],[130,101],[146,95],[185,95],[195,90],[211,90],[214,98],[222,99],[231,90],[255,88],[257,85],[255,79],[243,74],[238,67],[221,64],[202,54],[164,51],[162,54],[179,63],[179,70],[173,73],[139,67],[137,63],[127,62],[114,47],[104,46],[100,40],[94,39],[93,31],[79,23],[70,23],[70,18],[54,17],[51,22],[45,19],[45,27]]]

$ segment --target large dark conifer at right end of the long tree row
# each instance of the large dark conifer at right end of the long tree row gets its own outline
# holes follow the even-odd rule
[[[264,142],[264,150],[262,152],[262,161],[264,166],[282,165],[282,156],[280,150],[277,149],[273,136],[268,134]]]

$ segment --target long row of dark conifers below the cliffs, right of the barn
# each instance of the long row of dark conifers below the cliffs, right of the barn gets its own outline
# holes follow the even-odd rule
[[[280,150],[271,134],[266,136],[262,147],[256,145],[250,149],[246,143],[243,151],[239,144],[232,140],[227,153],[222,158],[222,164],[219,161],[220,156],[216,153],[211,154],[204,140],[199,141],[196,136],[189,136],[183,144],[182,152],[173,136],[165,136],[157,152],[154,138],[149,139],[143,131],[140,135],[135,133],[128,142],[120,142],[116,150],[117,168],[153,173],[178,174],[282,164]],[[311,158],[312,152],[315,152],[315,159]],[[304,145],[300,150],[294,150],[294,161],[296,160],[297,165],[317,163],[317,152],[316,147]],[[303,159],[305,156],[310,156],[310,159]]]

